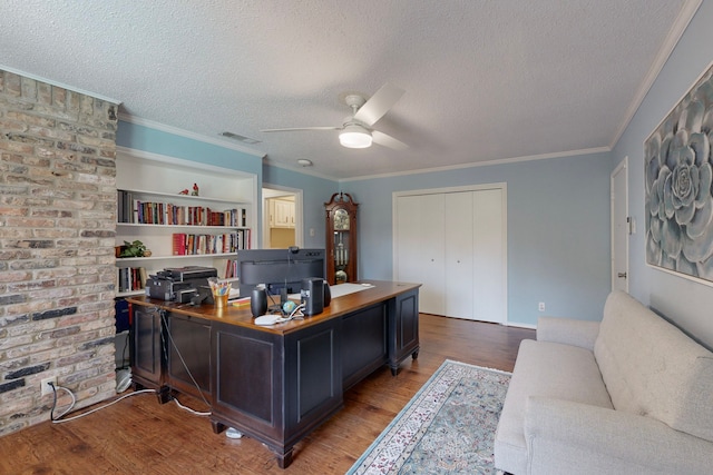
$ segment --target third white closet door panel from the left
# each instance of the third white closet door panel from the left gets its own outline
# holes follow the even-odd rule
[[[473,192],[449,192],[445,200],[445,315],[471,318]]]

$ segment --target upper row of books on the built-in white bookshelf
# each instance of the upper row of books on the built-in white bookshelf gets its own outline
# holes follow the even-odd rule
[[[204,206],[141,201],[134,199],[133,194],[126,190],[118,190],[117,218],[119,222],[141,225],[247,226],[247,210],[245,208],[216,210]]]

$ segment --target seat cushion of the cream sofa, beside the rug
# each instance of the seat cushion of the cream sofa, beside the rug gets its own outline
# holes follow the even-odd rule
[[[612,408],[594,354],[550,342],[520,343],[495,439],[498,468],[527,472],[525,408],[530,396]]]

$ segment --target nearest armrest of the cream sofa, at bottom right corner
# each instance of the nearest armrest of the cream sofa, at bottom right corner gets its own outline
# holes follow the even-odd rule
[[[713,443],[664,423],[568,400],[530,397],[529,474],[707,473]]]

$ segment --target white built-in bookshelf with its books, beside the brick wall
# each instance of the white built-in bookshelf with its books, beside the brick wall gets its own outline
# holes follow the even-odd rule
[[[117,257],[118,297],[144,293],[146,278],[165,268],[235,277],[237,253],[254,246],[253,174],[118,147],[116,184],[116,245],[140,240],[150,251]]]

